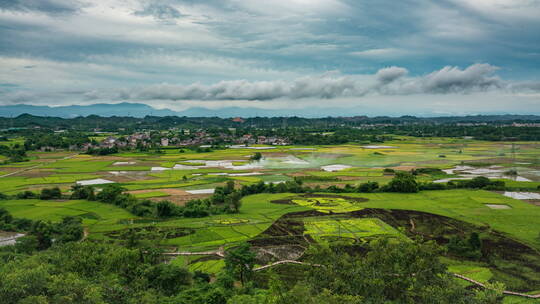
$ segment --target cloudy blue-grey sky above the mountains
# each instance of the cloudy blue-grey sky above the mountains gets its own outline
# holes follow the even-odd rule
[[[540,114],[540,0],[0,0],[0,105]]]

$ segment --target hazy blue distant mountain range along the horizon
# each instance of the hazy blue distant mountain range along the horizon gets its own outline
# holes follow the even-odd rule
[[[34,105],[9,105],[0,106],[0,117],[17,117],[21,114],[30,114],[35,116],[48,116],[48,117],[61,117],[61,118],[74,118],[79,116],[98,115],[102,117],[122,116],[122,117],[137,117],[142,118],[145,116],[187,116],[187,117],[306,117],[306,118],[318,118],[318,117],[352,117],[362,116],[362,108],[305,108],[305,109],[279,109],[268,110],[259,108],[240,108],[240,107],[228,107],[221,109],[207,109],[207,108],[190,108],[185,111],[173,111],[170,109],[156,109],[152,106],[142,103],[116,103],[116,104],[92,104],[85,106],[34,106]],[[499,116],[505,113],[492,113],[494,116]],[[425,116],[425,115],[423,115]],[[487,115],[493,116],[493,115]],[[537,115],[502,115],[496,120],[538,120],[540,116]]]

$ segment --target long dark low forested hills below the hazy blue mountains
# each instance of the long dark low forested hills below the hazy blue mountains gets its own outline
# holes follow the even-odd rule
[[[231,119],[219,117],[187,117],[187,116],[145,116],[143,118],[129,116],[103,117],[97,115],[61,118],[53,116],[34,116],[22,114],[13,118],[0,117],[0,128],[21,127],[54,127],[65,129],[94,129],[94,128],[149,128],[166,129],[170,127],[256,127],[256,128],[287,128],[287,127],[381,127],[384,125],[511,125],[538,124],[538,115],[477,115],[452,117],[252,117]]]

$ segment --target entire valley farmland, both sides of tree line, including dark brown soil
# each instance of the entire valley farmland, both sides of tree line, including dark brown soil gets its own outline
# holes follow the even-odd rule
[[[65,198],[0,200],[0,207],[15,218],[60,222],[65,216],[80,217],[89,241],[123,243],[129,231],[147,231],[148,240],[178,254],[169,256],[172,264],[210,274],[225,266],[220,254],[245,242],[257,252],[260,267],[279,260],[302,261],[307,248],[317,243],[356,248],[381,238],[410,242],[420,237],[447,246],[453,237],[478,233],[490,250],[486,258],[443,254],[441,260],[449,270],[479,282],[499,281],[512,290],[533,292],[540,290],[540,207],[535,200],[472,189],[322,190],[353,189],[366,182],[384,186],[395,172],[418,169],[415,178],[421,183],[490,174],[493,180],[504,181],[509,191],[534,194],[540,185],[539,147],[531,142],[396,137],[385,146],[260,146],[261,160],[252,160],[254,150],[248,148],[202,153],[167,148],[160,153],[107,156],[36,152],[28,163],[0,167],[3,174],[11,173],[1,177],[0,192],[16,195],[58,186],[69,197],[76,182],[104,180],[150,204],[167,200],[185,206],[190,200],[212,197],[214,189],[227,182],[240,188],[301,181],[314,190],[246,195],[238,212],[202,217],[137,216],[112,204]],[[509,170],[523,179],[505,175]],[[99,193],[105,184],[93,187]],[[295,266],[290,267],[292,271]],[[505,301],[521,303],[512,302],[517,301],[513,297]]]

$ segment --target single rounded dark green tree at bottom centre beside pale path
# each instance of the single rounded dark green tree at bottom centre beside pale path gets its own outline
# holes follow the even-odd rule
[[[253,275],[255,253],[250,250],[248,243],[228,250],[225,254],[225,270],[235,279],[245,285]]]

